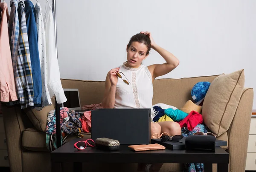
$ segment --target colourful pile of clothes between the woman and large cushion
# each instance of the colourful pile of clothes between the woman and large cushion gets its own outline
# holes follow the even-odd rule
[[[180,124],[181,135],[188,137],[196,132],[208,132],[201,115],[204,97],[209,89],[209,82],[198,82],[191,90],[191,100],[187,101],[182,108],[158,103],[153,105],[155,116],[154,122],[175,121]],[[204,172],[204,163],[186,163],[185,172]]]

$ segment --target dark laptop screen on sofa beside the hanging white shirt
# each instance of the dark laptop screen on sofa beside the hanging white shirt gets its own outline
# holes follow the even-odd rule
[[[81,109],[78,89],[64,89],[64,94],[67,101],[62,104],[63,107],[67,107],[69,110]]]

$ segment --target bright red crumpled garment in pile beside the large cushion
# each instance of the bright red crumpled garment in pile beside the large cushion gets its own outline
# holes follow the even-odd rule
[[[203,116],[195,111],[191,111],[186,118],[179,122],[180,127],[186,126],[189,131],[192,131],[200,123],[203,123]]]

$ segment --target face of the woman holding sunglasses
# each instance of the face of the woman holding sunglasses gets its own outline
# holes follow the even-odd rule
[[[144,43],[139,43],[137,41],[132,42],[130,47],[127,45],[126,51],[128,67],[138,68],[140,67],[140,63],[148,57],[148,55],[146,55],[146,52],[148,51],[147,46]]]

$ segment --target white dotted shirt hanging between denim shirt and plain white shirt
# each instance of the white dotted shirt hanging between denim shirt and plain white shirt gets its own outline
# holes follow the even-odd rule
[[[47,56],[46,56],[46,42],[44,31],[43,13],[40,3],[35,4],[36,11],[36,27],[38,31],[38,52],[41,67],[41,79],[42,79],[42,97],[41,106],[48,106],[52,103],[47,86]]]

